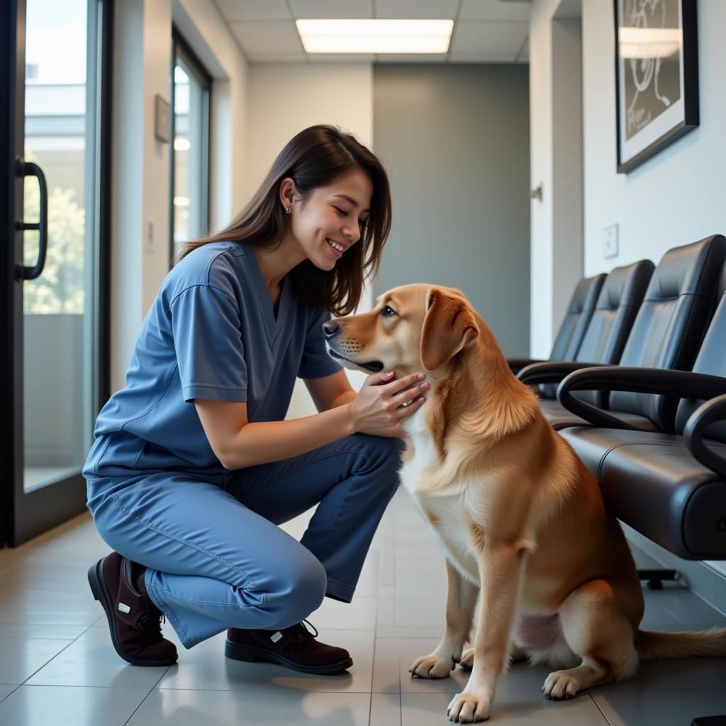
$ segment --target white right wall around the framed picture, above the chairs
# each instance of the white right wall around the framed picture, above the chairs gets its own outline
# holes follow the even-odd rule
[[[584,70],[585,272],[650,258],[726,233],[726,2],[698,2],[701,126],[638,167],[616,173],[613,3],[582,9]],[[619,256],[602,255],[602,230],[619,224]]]

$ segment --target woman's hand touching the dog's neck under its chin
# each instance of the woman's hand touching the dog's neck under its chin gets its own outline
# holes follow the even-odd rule
[[[369,375],[356,398],[348,404],[355,431],[389,428],[423,405],[429,384],[424,373],[393,380],[393,372]]]

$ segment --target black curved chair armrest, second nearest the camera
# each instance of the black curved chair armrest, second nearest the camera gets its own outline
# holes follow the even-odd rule
[[[637,427],[576,399],[571,392],[578,390],[632,391],[682,399],[712,399],[726,393],[726,378],[668,368],[597,366],[575,371],[560,383],[557,397],[568,411],[596,426],[637,431]]]

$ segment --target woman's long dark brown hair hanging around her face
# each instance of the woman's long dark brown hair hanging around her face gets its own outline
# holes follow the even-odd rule
[[[378,158],[354,136],[335,126],[310,126],[293,136],[245,208],[221,232],[187,242],[179,260],[210,242],[248,242],[274,248],[282,241],[287,224],[279,197],[282,179],[293,179],[304,204],[314,189],[333,184],[356,169],[370,176],[373,185],[370,213],[362,225],[359,242],[330,272],[305,260],[288,273],[293,292],[303,303],[336,316],[350,314],[360,301],[364,280],[378,272],[383,245],[391,231],[391,190]]]

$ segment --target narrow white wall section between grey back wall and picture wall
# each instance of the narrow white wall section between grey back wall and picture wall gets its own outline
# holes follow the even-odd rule
[[[531,200],[530,218],[529,351],[534,358],[549,356],[582,277],[579,21],[567,20],[573,7],[579,9],[568,0],[537,0],[529,21],[530,183],[532,189],[542,184],[542,199]]]

